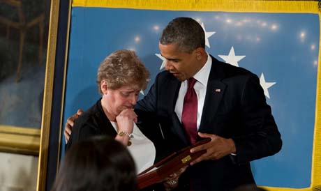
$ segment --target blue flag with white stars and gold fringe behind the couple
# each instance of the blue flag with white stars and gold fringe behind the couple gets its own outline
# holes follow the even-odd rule
[[[206,32],[207,52],[260,77],[272,107],[283,148],[251,162],[257,185],[267,190],[320,189],[318,1],[74,0],[69,14],[62,121],[96,102],[99,63],[116,49],[137,52],[151,72],[148,91],[164,68],[158,50],[162,29],[174,17],[192,17]]]

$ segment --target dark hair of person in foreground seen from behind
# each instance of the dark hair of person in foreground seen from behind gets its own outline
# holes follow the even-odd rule
[[[135,186],[135,163],[127,148],[99,136],[68,150],[52,191],[131,191]]]

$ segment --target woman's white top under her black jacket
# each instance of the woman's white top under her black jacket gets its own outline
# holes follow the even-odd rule
[[[113,121],[110,121],[110,123],[112,123],[112,126],[117,132],[116,123]],[[142,134],[135,123],[132,135],[133,137],[130,138],[130,142],[132,144],[127,146],[127,148],[135,161],[137,174],[140,174],[140,172],[144,171],[148,167],[151,167],[151,165],[154,165],[156,148],[153,142],[151,142],[151,140]]]

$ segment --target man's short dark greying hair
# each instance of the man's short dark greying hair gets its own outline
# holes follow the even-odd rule
[[[200,24],[188,17],[177,17],[167,24],[159,39],[160,44],[177,44],[184,52],[205,47],[205,33]]]

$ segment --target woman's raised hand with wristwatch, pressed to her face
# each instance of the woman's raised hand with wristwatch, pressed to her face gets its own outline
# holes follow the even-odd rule
[[[124,109],[116,117],[116,121],[118,135],[115,139],[127,146],[130,139],[129,135],[133,133],[134,123],[137,123],[137,115],[135,114],[134,109]]]

